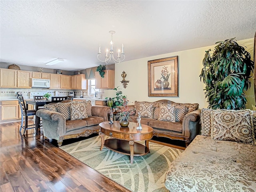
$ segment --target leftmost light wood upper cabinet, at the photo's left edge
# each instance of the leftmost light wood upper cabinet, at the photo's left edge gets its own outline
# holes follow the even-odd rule
[[[17,70],[0,68],[0,86],[8,88],[17,87]]]

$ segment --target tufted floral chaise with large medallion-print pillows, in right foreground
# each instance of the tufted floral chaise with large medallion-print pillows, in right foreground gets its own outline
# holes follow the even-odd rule
[[[202,109],[202,135],[170,165],[170,192],[256,191],[256,113]]]

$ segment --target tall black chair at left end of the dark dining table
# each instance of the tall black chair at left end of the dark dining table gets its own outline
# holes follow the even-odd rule
[[[20,132],[21,132],[21,129],[23,128],[24,129],[23,134],[25,134],[26,130],[36,128],[36,124],[28,125],[28,116],[33,115],[36,117],[36,110],[27,110],[23,96],[18,96],[18,101],[20,104],[20,112],[21,112]],[[25,117],[25,125],[23,126],[24,117]],[[28,128],[29,126],[33,126],[33,127]]]

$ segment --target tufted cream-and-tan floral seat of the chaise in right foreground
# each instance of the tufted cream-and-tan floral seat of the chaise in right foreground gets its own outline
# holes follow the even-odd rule
[[[253,192],[256,146],[198,135],[170,163],[165,186],[171,192]]]

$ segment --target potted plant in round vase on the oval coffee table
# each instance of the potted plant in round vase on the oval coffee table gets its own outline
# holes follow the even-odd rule
[[[129,120],[131,120],[131,118],[129,116],[134,115],[134,111],[132,109],[128,110],[128,99],[127,98],[123,98],[123,102],[124,102],[124,108],[120,109],[120,108],[115,108],[114,110],[116,110],[116,112],[118,112],[116,114],[116,119],[119,120],[119,123],[122,127],[127,127],[129,125]]]

